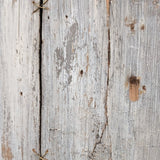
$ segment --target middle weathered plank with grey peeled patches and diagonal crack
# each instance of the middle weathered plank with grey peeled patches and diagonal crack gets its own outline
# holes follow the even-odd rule
[[[55,0],[43,12],[42,153],[109,159],[106,1]]]

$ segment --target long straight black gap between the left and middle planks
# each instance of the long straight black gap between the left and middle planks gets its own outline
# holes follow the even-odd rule
[[[43,0],[40,0],[40,6],[42,6]],[[39,108],[39,153],[41,155],[42,148],[42,15],[43,8],[39,9],[39,97],[40,97],[40,108]]]

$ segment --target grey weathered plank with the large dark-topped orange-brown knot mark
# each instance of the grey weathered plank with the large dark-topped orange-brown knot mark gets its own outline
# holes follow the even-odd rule
[[[110,9],[112,159],[159,160],[159,3],[113,0]]]

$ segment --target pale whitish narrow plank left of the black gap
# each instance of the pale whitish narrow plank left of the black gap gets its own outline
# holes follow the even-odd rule
[[[0,2],[0,159],[39,159],[39,13],[32,1]]]

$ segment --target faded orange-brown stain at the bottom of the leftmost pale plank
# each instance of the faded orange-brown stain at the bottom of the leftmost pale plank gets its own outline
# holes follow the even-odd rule
[[[4,160],[12,160],[13,159],[13,154],[8,146],[8,142],[6,144],[2,144],[2,157]]]

